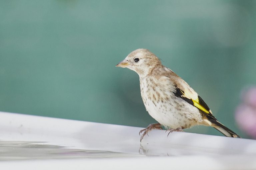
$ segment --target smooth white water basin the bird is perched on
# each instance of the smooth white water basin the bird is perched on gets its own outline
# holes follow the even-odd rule
[[[256,140],[0,112],[1,169],[256,169]]]

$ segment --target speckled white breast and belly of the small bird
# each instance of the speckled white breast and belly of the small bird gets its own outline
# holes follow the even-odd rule
[[[189,128],[202,122],[196,107],[176,97],[170,92],[172,89],[150,83],[149,80],[140,81],[141,97],[149,115],[157,122],[166,128]]]

